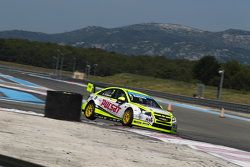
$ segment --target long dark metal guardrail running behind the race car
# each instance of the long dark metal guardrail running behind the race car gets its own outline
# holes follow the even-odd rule
[[[92,81],[85,80],[84,82],[88,83]],[[96,86],[99,86],[99,87],[118,86],[118,85],[105,84],[105,83],[100,83],[100,82],[92,82],[92,83],[94,83]],[[140,92],[144,92],[151,96],[161,97],[161,98],[165,98],[169,100],[197,104],[197,105],[213,107],[213,108],[218,108],[218,109],[224,108],[226,110],[232,110],[232,111],[244,112],[244,113],[250,114],[250,105],[246,105],[246,104],[230,103],[230,102],[212,100],[212,99],[194,98],[194,97],[189,97],[189,96],[176,95],[176,94],[171,94],[171,93],[162,93],[162,92],[141,89],[141,88],[132,88],[132,87],[127,87],[127,86],[123,86],[123,87],[137,90]]]

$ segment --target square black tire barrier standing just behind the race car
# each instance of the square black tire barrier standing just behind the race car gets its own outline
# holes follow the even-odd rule
[[[82,95],[72,92],[47,91],[45,117],[80,121]]]

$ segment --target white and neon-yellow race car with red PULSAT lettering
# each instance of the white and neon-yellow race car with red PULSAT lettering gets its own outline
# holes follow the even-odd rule
[[[97,117],[116,120],[124,126],[140,126],[167,133],[177,132],[177,120],[171,112],[164,110],[151,96],[120,87],[108,87],[91,92],[82,104],[84,116],[90,120]]]

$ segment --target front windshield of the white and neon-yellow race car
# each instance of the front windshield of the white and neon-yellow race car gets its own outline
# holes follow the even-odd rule
[[[160,105],[150,96],[128,91],[131,102],[142,104],[149,107],[161,108]]]

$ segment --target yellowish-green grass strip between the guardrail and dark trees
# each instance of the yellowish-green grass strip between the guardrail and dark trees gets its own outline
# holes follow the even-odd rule
[[[144,88],[160,92],[185,95],[190,97],[192,97],[197,90],[197,85],[194,83],[159,79],[127,73],[107,77],[91,77],[91,80],[120,86],[131,86],[135,88]],[[216,99],[216,92],[217,87],[206,86],[204,91],[204,98]],[[250,92],[223,89],[221,97],[223,101],[250,104]]]

